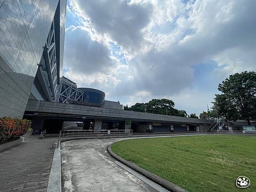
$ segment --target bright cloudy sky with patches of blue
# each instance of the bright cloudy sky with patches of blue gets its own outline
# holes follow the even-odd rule
[[[218,84],[256,71],[256,0],[68,0],[63,75],[134,105],[207,111]]]

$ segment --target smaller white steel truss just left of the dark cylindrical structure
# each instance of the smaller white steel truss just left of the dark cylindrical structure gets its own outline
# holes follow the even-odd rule
[[[64,80],[61,81],[61,90],[58,102],[66,103],[68,99],[83,101],[84,92]]]

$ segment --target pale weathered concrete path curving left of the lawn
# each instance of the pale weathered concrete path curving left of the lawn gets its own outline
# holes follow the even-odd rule
[[[114,160],[107,146],[119,139],[75,140],[61,144],[63,191],[167,191]]]

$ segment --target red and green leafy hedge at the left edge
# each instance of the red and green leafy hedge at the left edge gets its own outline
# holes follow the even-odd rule
[[[31,121],[12,117],[0,118],[0,144],[17,140],[31,127]]]

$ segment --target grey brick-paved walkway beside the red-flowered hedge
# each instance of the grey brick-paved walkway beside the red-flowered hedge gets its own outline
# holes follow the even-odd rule
[[[39,140],[38,135],[0,152],[0,192],[42,192],[47,190],[54,149],[58,137]]]

